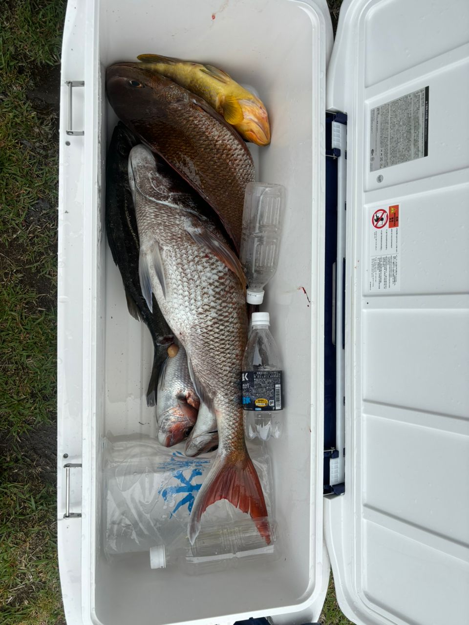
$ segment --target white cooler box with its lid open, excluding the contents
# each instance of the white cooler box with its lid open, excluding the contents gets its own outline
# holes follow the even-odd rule
[[[68,3],[58,252],[68,625],[310,622],[330,563],[356,623],[468,622],[469,3],[345,0],[330,58],[332,44],[325,0]],[[283,437],[269,442],[284,554],[268,567],[186,577],[103,554],[103,437],[155,427],[144,397],[153,346],[128,314],[104,231],[116,121],[105,70],[146,52],[213,63],[270,113],[271,145],[255,156],[258,179],[288,194],[265,301],[288,404]],[[347,118],[326,123],[326,109]]]

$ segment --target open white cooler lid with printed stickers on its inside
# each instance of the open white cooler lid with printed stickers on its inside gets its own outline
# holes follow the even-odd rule
[[[469,613],[468,76],[466,0],[343,3],[345,494],[325,534],[356,623]]]

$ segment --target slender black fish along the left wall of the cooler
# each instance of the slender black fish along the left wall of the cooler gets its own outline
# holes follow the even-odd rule
[[[173,341],[171,329],[158,304],[153,300],[150,312],[142,295],[138,277],[139,240],[132,194],[129,188],[128,159],[138,140],[123,123],[114,128],[106,163],[106,234],[113,259],[121,272],[130,314],[146,323],[154,344],[153,370],[146,401],[156,404],[159,369],[168,356]]]

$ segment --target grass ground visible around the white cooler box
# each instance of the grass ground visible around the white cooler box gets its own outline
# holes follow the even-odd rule
[[[0,622],[63,625],[56,559],[58,86],[65,0],[0,6]],[[331,0],[333,17],[340,0]],[[346,625],[333,584],[321,616]]]

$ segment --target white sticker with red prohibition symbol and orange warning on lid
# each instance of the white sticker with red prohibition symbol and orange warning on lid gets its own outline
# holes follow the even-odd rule
[[[399,204],[370,215],[369,288],[372,293],[400,291]]]

